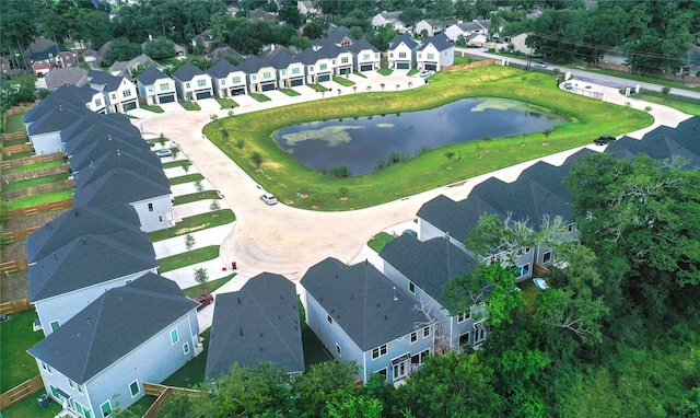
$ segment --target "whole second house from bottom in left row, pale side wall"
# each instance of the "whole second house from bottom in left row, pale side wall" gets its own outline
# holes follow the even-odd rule
[[[30,266],[30,301],[36,306],[44,334],[58,329],[105,290],[155,272],[155,253],[147,239],[131,229],[109,235],[93,231]]]

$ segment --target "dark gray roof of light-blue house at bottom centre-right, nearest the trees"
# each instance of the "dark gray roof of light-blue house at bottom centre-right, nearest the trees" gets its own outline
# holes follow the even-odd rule
[[[301,283],[363,351],[427,322],[411,298],[366,262],[347,266],[326,258],[312,266]]]

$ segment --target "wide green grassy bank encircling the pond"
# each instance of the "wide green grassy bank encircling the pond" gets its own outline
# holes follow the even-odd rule
[[[439,72],[430,84],[401,92],[341,95],[293,106],[237,115],[220,119],[229,131],[245,139],[245,153],[224,144],[220,128],[205,127],[207,137],[280,201],[294,200],[305,190],[307,199],[295,205],[314,210],[349,210],[395,200],[446,184],[456,183],[539,156],[591,143],[600,135],[620,135],[652,124],[649,114],[560,91],[553,77],[528,73],[508,67],[490,66],[452,73]],[[334,178],[312,171],[283,151],[271,133],[305,121],[404,113],[433,108],[465,97],[502,97],[556,109],[571,123],[560,125],[547,138],[542,133],[518,136],[515,140],[494,138],[429,150],[380,172],[349,178]],[[258,152],[261,170],[249,158]],[[462,162],[448,162],[445,152],[462,153]],[[478,156],[482,155],[481,159]],[[452,170],[447,170],[451,166]],[[348,199],[339,199],[339,189]]]

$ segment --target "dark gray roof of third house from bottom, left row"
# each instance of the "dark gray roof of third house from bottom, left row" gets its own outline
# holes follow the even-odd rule
[[[140,232],[141,223],[133,207],[119,204],[109,211],[102,208],[71,208],[26,237],[30,263],[58,251],[71,241],[89,234],[109,235],[126,230]],[[144,234],[149,239],[148,234]]]

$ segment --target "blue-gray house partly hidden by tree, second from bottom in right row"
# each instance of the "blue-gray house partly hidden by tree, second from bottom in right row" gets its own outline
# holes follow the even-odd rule
[[[486,339],[486,316],[478,302],[469,312],[455,314],[443,306],[443,288],[453,277],[474,270],[477,264],[474,257],[448,239],[419,241],[410,234],[401,234],[388,242],[380,257],[384,262],[384,275],[407,291],[415,303],[435,321],[435,346],[439,350],[454,351]],[[475,299],[478,300],[478,295]]]

